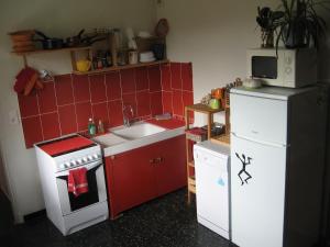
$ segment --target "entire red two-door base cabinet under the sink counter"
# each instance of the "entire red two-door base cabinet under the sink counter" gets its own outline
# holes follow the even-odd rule
[[[185,135],[106,157],[111,218],[187,184]]]

